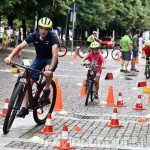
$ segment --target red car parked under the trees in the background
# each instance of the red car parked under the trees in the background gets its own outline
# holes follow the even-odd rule
[[[102,48],[105,48],[105,47],[114,48],[114,46],[115,46],[115,42],[111,36],[102,37],[100,44],[101,44]]]

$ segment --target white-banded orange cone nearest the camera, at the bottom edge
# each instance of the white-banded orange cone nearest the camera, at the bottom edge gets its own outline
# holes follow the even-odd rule
[[[75,149],[76,147],[70,146],[69,136],[68,136],[68,126],[64,125],[62,130],[62,137],[60,139],[60,144],[58,146],[54,146],[53,148],[60,150],[69,150]]]

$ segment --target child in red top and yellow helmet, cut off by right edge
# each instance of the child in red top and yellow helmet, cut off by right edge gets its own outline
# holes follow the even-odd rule
[[[146,41],[144,45],[145,46],[142,48],[142,51],[145,53],[147,65],[148,62],[150,62],[150,40]],[[145,74],[146,74],[146,67],[145,67]]]

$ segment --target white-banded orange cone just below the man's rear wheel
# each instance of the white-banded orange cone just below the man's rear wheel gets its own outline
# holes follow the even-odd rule
[[[51,117],[50,113],[47,115],[44,129],[40,130],[39,133],[41,133],[41,134],[56,134],[56,132],[53,130],[52,117]]]

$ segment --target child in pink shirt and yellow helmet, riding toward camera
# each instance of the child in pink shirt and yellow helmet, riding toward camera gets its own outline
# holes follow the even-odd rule
[[[98,67],[102,67],[103,69],[106,68],[105,67],[105,60],[103,58],[103,56],[99,53],[99,47],[100,44],[98,42],[92,42],[90,45],[90,48],[92,50],[92,52],[89,52],[87,54],[87,56],[85,56],[82,61],[81,61],[81,65],[84,64],[85,60],[88,60],[90,62],[91,65],[95,64]],[[96,77],[95,77],[95,87],[96,87],[96,93],[95,93],[95,98],[98,98],[98,91],[99,91],[99,79],[101,76],[101,68],[96,68]]]

